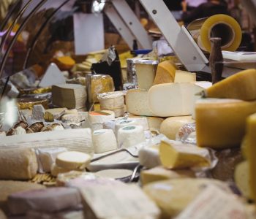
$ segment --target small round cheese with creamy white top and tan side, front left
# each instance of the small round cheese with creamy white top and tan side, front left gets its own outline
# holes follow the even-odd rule
[[[85,169],[90,164],[91,156],[78,151],[67,151],[56,157],[56,164],[64,169]]]

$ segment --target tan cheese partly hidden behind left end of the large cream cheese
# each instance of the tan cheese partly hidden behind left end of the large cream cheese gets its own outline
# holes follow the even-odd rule
[[[133,115],[154,116],[148,106],[148,91],[133,89],[125,96],[127,111]]]

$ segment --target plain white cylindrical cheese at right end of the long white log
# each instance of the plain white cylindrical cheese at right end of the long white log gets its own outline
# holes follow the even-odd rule
[[[92,134],[94,153],[105,153],[117,149],[116,136],[112,129],[100,129]]]

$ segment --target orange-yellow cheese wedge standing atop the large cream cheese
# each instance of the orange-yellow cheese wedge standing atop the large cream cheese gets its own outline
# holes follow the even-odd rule
[[[154,78],[154,85],[174,82],[176,74],[176,66],[173,61],[163,61],[157,66],[156,77]]]

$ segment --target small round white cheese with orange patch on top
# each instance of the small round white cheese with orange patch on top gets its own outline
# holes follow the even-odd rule
[[[100,110],[89,112],[89,121],[91,123],[104,123],[108,120],[113,120],[115,118],[115,112],[110,110]]]

